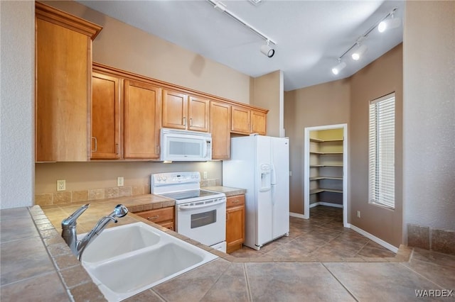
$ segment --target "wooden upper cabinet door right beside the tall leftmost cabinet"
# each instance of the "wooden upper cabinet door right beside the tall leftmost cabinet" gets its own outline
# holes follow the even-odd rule
[[[120,81],[106,74],[92,75],[92,159],[121,157]]]

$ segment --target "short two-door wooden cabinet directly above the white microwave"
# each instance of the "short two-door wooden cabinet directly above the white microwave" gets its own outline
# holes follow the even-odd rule
[[[208,132],[209,101],[178,91],[163,91],[163,127]]]

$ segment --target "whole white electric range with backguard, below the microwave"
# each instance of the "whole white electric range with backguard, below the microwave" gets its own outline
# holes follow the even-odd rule
[[[151,174],[151,194],[176,201],[176,232],[226,252],[226,196],[200,189],[199,172]]]

